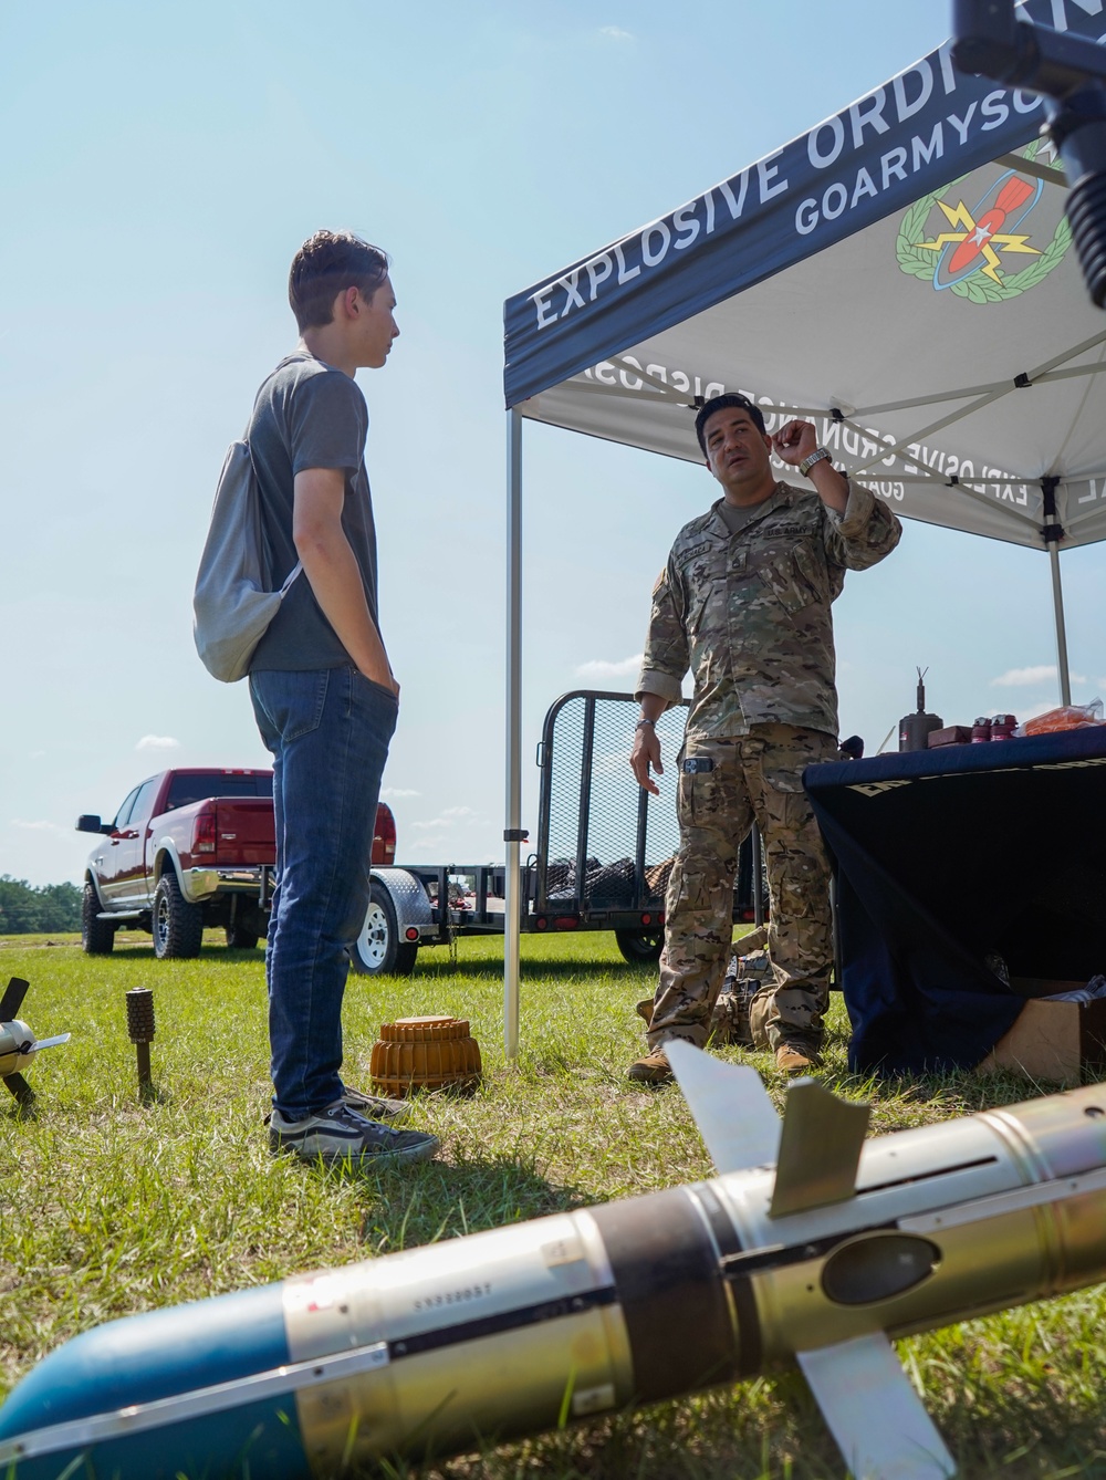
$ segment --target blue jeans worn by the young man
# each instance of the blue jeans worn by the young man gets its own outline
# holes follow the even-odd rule
[[[355,667],[250,673],[272,752],[277,889],[265,975],[272,1104],[298,1120],[342,1094],[342,996],[398,702]]]

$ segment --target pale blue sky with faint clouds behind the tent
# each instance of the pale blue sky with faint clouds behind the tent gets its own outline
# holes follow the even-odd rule
[[[80,878],[76,815],[111,815],[164,765],[267,762],[244,685],[195,657],[191,583],[320,225],[385,246],[400,302],[386,370],[360,377],[400,855],[500,857],[503,299],[946,28],[939,0],[4,7],[0,873]],[[856,333],[887,326],[857,303]],[[527,428],[527,756],[557,694],[632,681],[656,571],[712,497],[705,471]],[[1103,576],[1102,546],[1065,556],[1079,699],[1106,687]],[[1030,551],[909,525],[850,577],[837,630],[842,731],[869,750],[912,707],[915,665],[949,722],[1056,697]]]

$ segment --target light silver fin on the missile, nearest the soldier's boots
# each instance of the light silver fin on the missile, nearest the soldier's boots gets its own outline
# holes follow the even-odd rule
[[[725,1064],[681,1039],[665,1043],[665,1054],[718,1171],[771,1166],[780,1119],[757,1070]]]

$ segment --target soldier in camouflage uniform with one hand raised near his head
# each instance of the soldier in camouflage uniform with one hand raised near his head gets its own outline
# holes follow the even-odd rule
[[[807,795],[807,765],[838,758],[831,602],[845,570],[875,565],[902,525],[860,484],[837,472],[810,422],[774,437],[742,395],[708,401],[696,417],[706,466],[724,490],[677,536],[653,589],[631,765],[657,792],[654,722],[694,697],[678,758],[680,852],[668,884],[665,950],[648,1052],[631,1079],[672,1073],[663,1043],[703,1046],[733,935],[737,848],[761,829],[771,916],[773,981],[754,998],[757,1042],[786,1072],[817,1063],[832,962],[829,867]],[[777,482],[771,454],[813,488]]]

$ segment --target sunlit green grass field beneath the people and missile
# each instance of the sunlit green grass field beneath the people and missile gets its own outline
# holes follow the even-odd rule
[[[653,971],[625,965],[609,935],[524,941],[517,1070],[503,1060],[500,941],[462,941],[456,966],[425,950],[409,980],[351,977],[351,1083],[367,1088],[379,1024],[418,1012],[468,1018],[486,1067],[472,1097],[416,1101],[415,1123],[443,1138],[440,1160],[352,1178],[269,1157],[261,953],[210,940],[194,962],[155,962],[144,935],[120,937],[102,959],[71,937],[0,941],[0,987],[30,980],[36,1032],[73,1032],[30,1072],[33,1117],[0,1103],[0,1393],[102,1320],[711,1175],[680,1091],[625,1077],[641,1045],[634,1003],[651,995]],[[154,989],[157,1011],[158,1097],[147,1106],[126,1035],[135,986]],[[845,1069],[837,999],[831,1026],[825,1082],[872,1100],[877,1134],[1038,1088],[970,1074],[862,1080]],[[767,1055],[723,1052],[755,1064],[782,1101]],[[1084,1291],[900,1344],[962,1476],[1106,1476],[1105,1307],[1102,1289]],[[783,1373],[425,1474],[800,1480],[839,1476],[841,1464],[801,1379]]]

